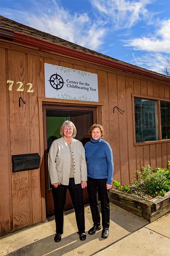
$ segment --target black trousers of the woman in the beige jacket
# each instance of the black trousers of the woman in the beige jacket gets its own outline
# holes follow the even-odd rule
[[[52,186],[56,233],[63,234],[64,207],[66,204],[67,189],[70,192],[72,204],[75,210],[75,218],[79,233],[85,232],[83,189],[81,187],[81,183],[75,184],[74,178],[70,178],[68,186],[62,184],[58,185],[57,188]]]

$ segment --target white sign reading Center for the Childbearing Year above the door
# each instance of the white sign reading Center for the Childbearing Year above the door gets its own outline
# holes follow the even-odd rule
[[[97,74],[45,63],[47,98],[99,101]]]

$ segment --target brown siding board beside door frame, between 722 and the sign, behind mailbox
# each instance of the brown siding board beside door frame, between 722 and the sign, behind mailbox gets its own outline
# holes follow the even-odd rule
[[[34,85],[34,92],[29,93],[29,102],[31,102],[29,119],[30,119],[30,153],[38,153],[40,150],[39,136],[39,118],[37,95],[45,94],[44,86],[44,62],[42,57],[28,55],[28,81]],[[41,189],[40,189],[40,169],[31,170],[31,191],[32,191],[32,218],[33,224],[41,222]]]

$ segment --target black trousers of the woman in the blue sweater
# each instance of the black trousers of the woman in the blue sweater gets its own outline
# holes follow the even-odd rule
[[[109,189],[106,188],[107,179],[92,179],[87,177],[87,191],[89,195],[90,210],[95,226],[100,224],[100,210],[98,194],[101,202],[102,226],[109,228],[110,223],[110,200]]]

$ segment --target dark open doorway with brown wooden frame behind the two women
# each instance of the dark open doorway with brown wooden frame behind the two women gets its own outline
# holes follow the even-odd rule
[[[96,123],[96,108],[81,108],[73,106],[43,106],[44,122],[44,160],[45,160],[45,186],[46,186],[46,215],[54,215],[54,204],[52,198],[51,182],[48,173],[48,152],[52,142],[61,138],[59,130],[65,120],[74,123],[77,129],[75,139],[80,140],[83,145],[90,140],[88,129]],[[87,189],[83,189],[84,204],[88,203]],[[67,190],[65,211],[72,209],[72,201]]]

